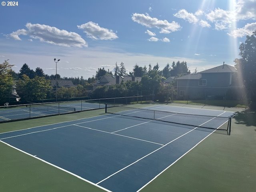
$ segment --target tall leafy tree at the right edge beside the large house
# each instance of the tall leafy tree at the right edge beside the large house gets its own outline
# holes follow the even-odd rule
[[[251,92],[253,108],[256,108],[256,30],[251,36],[246,36],[244,43],[239,46],[241,58],[234,60],[241,81]]]

